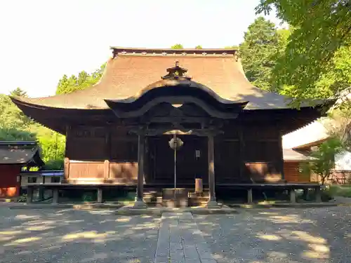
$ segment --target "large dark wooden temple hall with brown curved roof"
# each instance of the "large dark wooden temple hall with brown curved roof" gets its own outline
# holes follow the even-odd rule
[[[27,115],[66,135],[65,180],[53,188],[216,189],[289,185],[282,135],[322,115],[320,102],[300,109],[254,87],[234,49],[112,47],[102,79],[52,97],[12,97]],[[176,140],[179,140],[176,139]],[[50,185],[46,185],[50,187]],[[55,196],[55,191],[54,191]]]

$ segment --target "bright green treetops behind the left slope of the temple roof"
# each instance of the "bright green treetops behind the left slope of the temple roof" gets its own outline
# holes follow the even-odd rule
[[[60,81],[58,81],[58,87],[56,88],[56,94],[72,93],[76,90],[84,90],[100,81],[101,76],[105,70],[106,64],[102,65],[100,69],[95,72],[88,74],[85,71],[79,72],[78,76],[72,75],[68,77],[63,75]]]

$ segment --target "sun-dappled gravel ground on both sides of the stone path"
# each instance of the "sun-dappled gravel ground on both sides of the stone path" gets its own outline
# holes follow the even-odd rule
[[[194,215],[218,263],[351,263],[351,208]],[[153,262],[159,217],[110,211],[9,210],[0,204],[0,262]]]

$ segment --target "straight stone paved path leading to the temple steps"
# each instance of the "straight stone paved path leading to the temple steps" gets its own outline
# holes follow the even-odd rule
[[[216,263],[191,213],[163,213],[154,263]]]

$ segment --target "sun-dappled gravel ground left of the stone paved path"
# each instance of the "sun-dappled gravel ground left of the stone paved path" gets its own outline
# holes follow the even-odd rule
[[[149,263],[158,227],[159,217],[1,205],[0,262]]]

